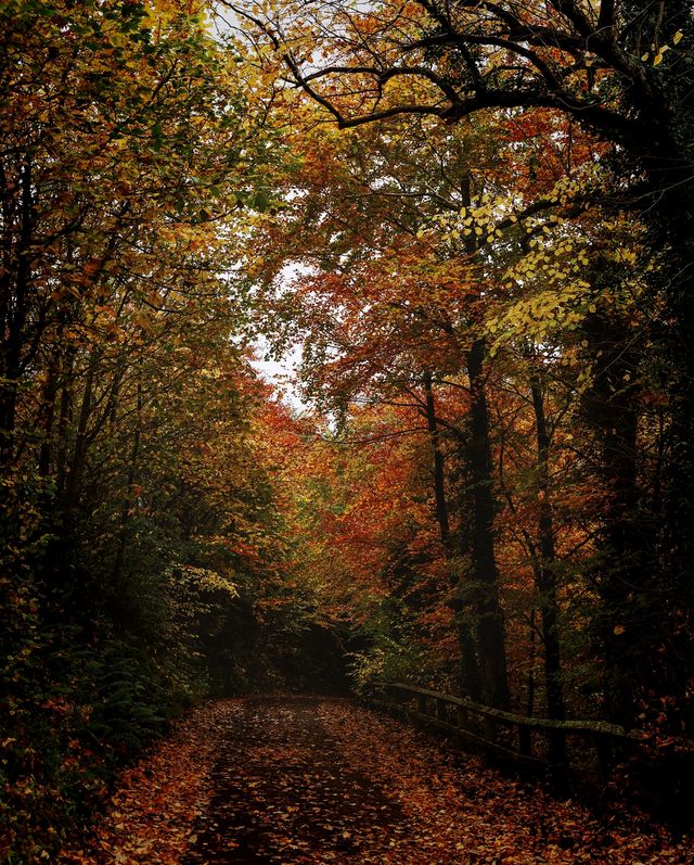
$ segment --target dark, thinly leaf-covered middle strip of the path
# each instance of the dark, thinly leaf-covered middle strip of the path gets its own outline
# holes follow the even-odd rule
[[[185,863],[383,862],[408,832],[386,779],[339,748],[345,703],[249,700],[229,717]],[[239,743],[243,742],[243,751]]]

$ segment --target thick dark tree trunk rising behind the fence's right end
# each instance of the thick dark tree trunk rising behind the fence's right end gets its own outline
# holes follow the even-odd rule
[[[594,381],[583,397],[583,415],[595,432],[606,496],[595,565],[601,598],[595,637],[606,669],[607,712],[614,721],[631,725],[638,714],[637,691],[652,679],[650,656],[664,624],[654,607],[660,599],[648,585],[650,540],[638,484],[638,359],[630,347],[633,334],[624,322],[599,310],[584,327],[594,355]]]

